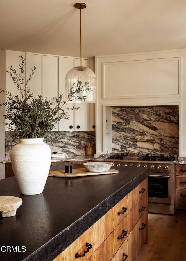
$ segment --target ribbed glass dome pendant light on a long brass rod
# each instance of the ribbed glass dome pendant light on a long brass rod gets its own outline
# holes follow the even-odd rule
[[[65,77],[65,95],[68,95],[72,85],[76,85],[77,81],[81,81],[83,86],[85,85],[85,82],[88,82],[89,84],[87,86],[91,88],[91,91],[82,91],[77,95],[81,97],[85,96],[85,101],[77,99],[69,102],[93,103],[96,102],[96,74],[90,68],[82,66],[81,61],[81,9],[86,8],[87,5],[85,3],[76,3],[74,7],[80,9],[80,66],[74,67],[69,70],[69,72],[67,72],[67,75]]]

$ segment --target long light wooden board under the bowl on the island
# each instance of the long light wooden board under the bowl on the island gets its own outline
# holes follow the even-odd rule
[[[91,175],[103,175],[103,174],[114,174],[119,171],[116,169],[109,169],[104,172],[89,172],[86,168],[76,168],[72,170],[72,173],[65,174],[65,171],[49,171],[49,176],[53,177],[81,177],[81,176],[91,176]]]

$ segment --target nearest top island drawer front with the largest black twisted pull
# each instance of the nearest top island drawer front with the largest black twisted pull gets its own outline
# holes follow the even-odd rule
[[[105,216],[99,219],[93,226],[85,231],[80,237],[78,237],[68,248],[66,248],[57,258],[53,261],[77,261],[75,254],[83,254],[87,250],[86,243],[92,245],[89,252],[81,257],[81,261],[87,261],[90,256],[96,251],[96,249],[104,241],[104,227],[105,227]]]

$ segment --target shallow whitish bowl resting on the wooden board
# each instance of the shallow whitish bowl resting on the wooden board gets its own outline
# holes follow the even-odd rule
[[[90,172],[104,172],[108,171],[112,164],[112,162],[85,162],[83,166]]]

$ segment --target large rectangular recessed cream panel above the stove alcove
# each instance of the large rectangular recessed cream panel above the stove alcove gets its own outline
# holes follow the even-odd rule
[[[180,96],[180,58],[103,63],[103,99]]]

